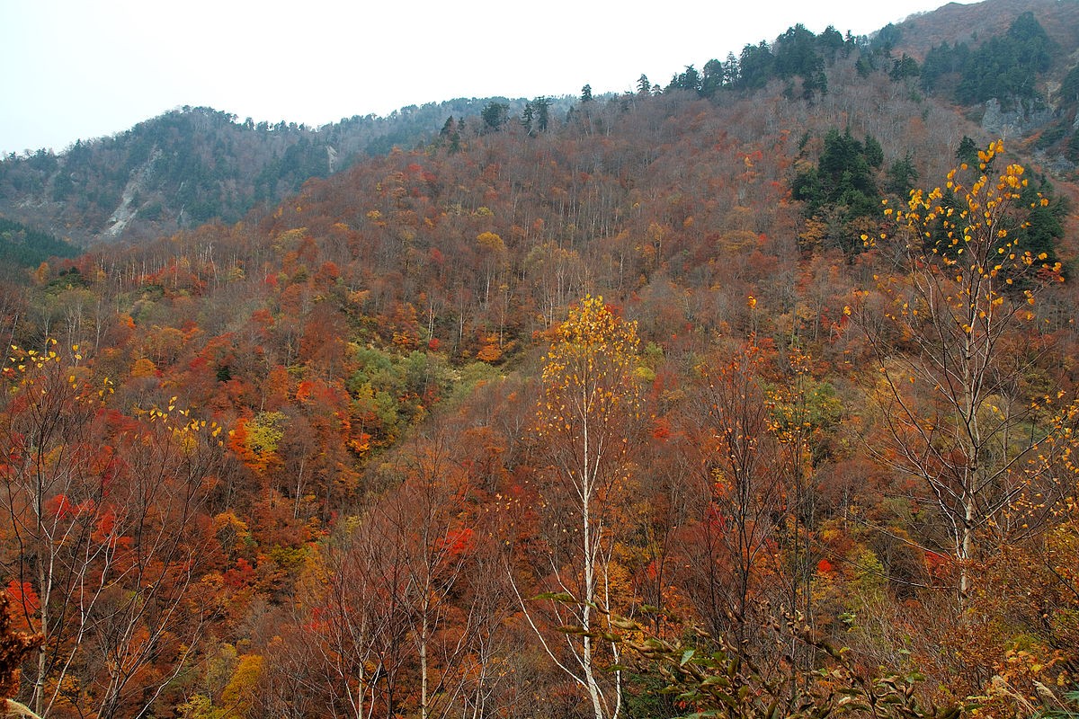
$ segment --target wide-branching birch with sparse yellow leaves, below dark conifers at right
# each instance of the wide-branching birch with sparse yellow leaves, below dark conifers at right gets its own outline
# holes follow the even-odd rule
[[[874,455],[928,489],[958,568],[960,603],[980,533],[998,527],[1009,504],[1050,471],[1038,451],[1048,432],[1036,417],[1042,398],[1026,377],[1038,357],[1037,295],[1063,278],[1060,263],[1024,247],[1029,217],[1048,201],[1023,199],[1021,165],[994,170],[1002,152],[993,143],[976,168],[952,170],[944,189],[912,191],[905,209],[885,210],[899,241],[889,245],[896,272],[877,277],[883,309],[864,292],[860,307],[845,310],[878,361],[871,393],[884,441]]]

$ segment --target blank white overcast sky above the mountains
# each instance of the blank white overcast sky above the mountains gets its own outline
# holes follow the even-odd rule
[[[60,152],[185,105],[318,126],[454,97],[622,92],[795,23],[865,34],[941,4],[0,0],[0,151]]]

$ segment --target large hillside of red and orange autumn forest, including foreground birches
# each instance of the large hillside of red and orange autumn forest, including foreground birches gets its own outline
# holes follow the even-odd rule
[[[11,694],[1073,716],[1076,185],[898,42],[492,102],[0,286]]]

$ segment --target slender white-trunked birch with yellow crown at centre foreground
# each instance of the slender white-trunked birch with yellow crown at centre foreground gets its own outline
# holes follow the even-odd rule
[[[625,500],[639,411],[638,344],[636,322],[618,317],[603,298],[585,296],[556,331],[537,412],[552,475],[544,501],[558,506],[564,522],[547,567],[550,619],[564,637],[562,648],[525,614],[551,659],[587,692],[596,719],[617,719],[623,709],[622,673],[604,668],[617,664],[618,647],[597,636],[606,628],[602,610],[617,600],[613,525]]]

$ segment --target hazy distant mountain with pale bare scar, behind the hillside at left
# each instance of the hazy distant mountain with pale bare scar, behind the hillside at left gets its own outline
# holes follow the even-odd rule
[[[477,116],[495,101],[514,113],[524,106],[454,99],[319,128],[241,122],[185,107],[59,154],[10,154],[0,162],[0,213],[77,244],[137,241],[215,219],[233,222],[259,203],[275,205],[312,177],[395,146],[423,144],[448,115]]]

